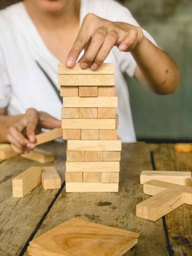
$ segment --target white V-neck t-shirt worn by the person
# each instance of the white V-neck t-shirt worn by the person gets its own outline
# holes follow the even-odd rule
[[[139,26],[127,8],[114,0],[81,0],[80,24],[87,13],[112,21]],[[152,37],[144,31],[145,36]],[[22,2],[0,11],[0,108],[9,115],[23,114],[27,108],[48,112],[60,119],[62,103],[38,64],[49,75],[57,89],[58,63],[31,20]],[[107,63],[115,64],[115,85],[118,96],[118,135],[123,142],[135,142],[129,95],[123,72],[134,76],[136,62],[130,53],[113,47]]]

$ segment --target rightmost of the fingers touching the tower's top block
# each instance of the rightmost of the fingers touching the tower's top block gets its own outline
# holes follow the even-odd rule
[[[117,38],[118,36],[115,31],[110,31],[109,33],[107,33],[107,35],[105,36],[105,41],[103,45],[100,47],[100,50],[94,60],[94,63],[90,67],[92,70],[96,70],[98,67],[100,67],[103,61],[105,61],[105,58],[107,58],[109,52],[116,44]]]

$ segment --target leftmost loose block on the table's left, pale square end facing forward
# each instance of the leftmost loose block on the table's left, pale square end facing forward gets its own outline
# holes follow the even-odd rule
[[[41,182],[41,167],[30,167],[12,180],[13,196],[22,198]]]

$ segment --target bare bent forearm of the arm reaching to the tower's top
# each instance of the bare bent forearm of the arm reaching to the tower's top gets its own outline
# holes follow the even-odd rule
[[[179,86],[179,71],[170,56],[145,37],[131,54],[152,91],[157,94],[175,92]]]

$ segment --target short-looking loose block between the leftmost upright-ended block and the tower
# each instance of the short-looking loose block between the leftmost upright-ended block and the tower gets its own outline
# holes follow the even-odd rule
[[[60,189],[61,178],[54,166],[41,168],[41,183],[43,189]]]

